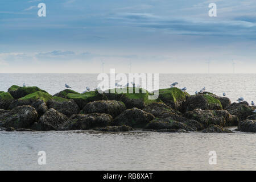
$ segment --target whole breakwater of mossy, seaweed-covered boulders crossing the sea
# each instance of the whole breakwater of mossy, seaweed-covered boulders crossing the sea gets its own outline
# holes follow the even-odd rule
[[[149,100],[150,92],[97,90],[78,93],[65,89],[55,95],[36,86],[13,85],[0,92],[0,127],[6,131],[131,130],[157,132],[232,133],[256,132],[254,106],[231,103],[212,93],[190,96],[178,88],[159,90],[159,98]]]

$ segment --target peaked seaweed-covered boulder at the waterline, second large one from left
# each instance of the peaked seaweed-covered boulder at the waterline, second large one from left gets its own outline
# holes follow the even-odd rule
[[[68,121],[68,117],[66,115],[51,108],[46,111],[42,117],[40,117],[38,122],[34,123],[32,129],[38,131],[57,130],[66,121]]]

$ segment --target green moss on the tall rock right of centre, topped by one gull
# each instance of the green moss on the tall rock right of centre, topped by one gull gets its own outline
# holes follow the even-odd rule
[[[159,89],[159,98],[162,101],[177,102],[185,100],[186,95],[182,90],[174,87],[168,89]]]

